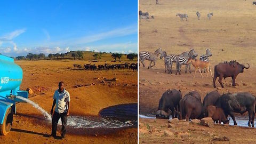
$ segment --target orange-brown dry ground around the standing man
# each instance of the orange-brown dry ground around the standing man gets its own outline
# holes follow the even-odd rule
[[[108,60],[106,62],[111,63]],[[32,89],[34,93],[29,95],[29,99],[49,113],[53,93],[58,89],[60,81],[65,82],[66,90],[70,93],[71,116],[98,116],[102,108],[122,103],[137,103],[137,71],[74,69],[74,63],[90,63],[88,60],[37,60],[15,61],[15,63],[23,70],[20,89],[26,90],[27,87]],[[105,63],[104,60],[95,62],[95,65],[102,63]],[[117,62],[111,64],[114,63]],[[116,82],[102,82],[104,78],[114,77],[117,78]],[[136,143],[138,141],[137,128],[95,130],[68,127],[65,140],[47,138],[45,137],[47,134],[51,134],[51,123],[46,123],[43,115],[28,103],[18,103],[12,130],[6,136],[1,136],[0,141],[1,143]]]

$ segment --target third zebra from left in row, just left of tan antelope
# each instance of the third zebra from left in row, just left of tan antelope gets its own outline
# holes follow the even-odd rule
[[[185,53],[180,55],[176,61],[176,75],[178,71],[180,74],[180,68],[182,65],[186,65],[189,59],[194,59],[195,57],[197,57],[197,53],[194,49],[191,49],[188,54]]]

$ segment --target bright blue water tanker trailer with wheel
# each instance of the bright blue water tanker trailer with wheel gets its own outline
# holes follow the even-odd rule
[[[0,134],[6,135],[12,127],[13,114],[16,114],[15,102],[23,102],[17,98],[28,98],[27,91],[20,91],[22,69],[14,60],[0,55]]]

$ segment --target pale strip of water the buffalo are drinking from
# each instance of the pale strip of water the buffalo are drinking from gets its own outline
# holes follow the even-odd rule
[[[148,115],[139,114],[139,118],[156,118],[156,116],[151,115],[151,114],[148,114]],[[233,119],[230,116],[228,116],[228,118],[230,118],[229,125],[234,125]],[[236,118],[237,125],[248,127],[248,125],[247,125],[247,123],[249,122],[249,117],[248,116],[236,116],[235,118]],[[255,120],[256,119],[254,119],[254,124],[256,124]]]

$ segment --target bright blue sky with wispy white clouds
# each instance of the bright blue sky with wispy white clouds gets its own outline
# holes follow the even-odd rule
[[[1,1],[0,53],[137,53],[138,1]]]

